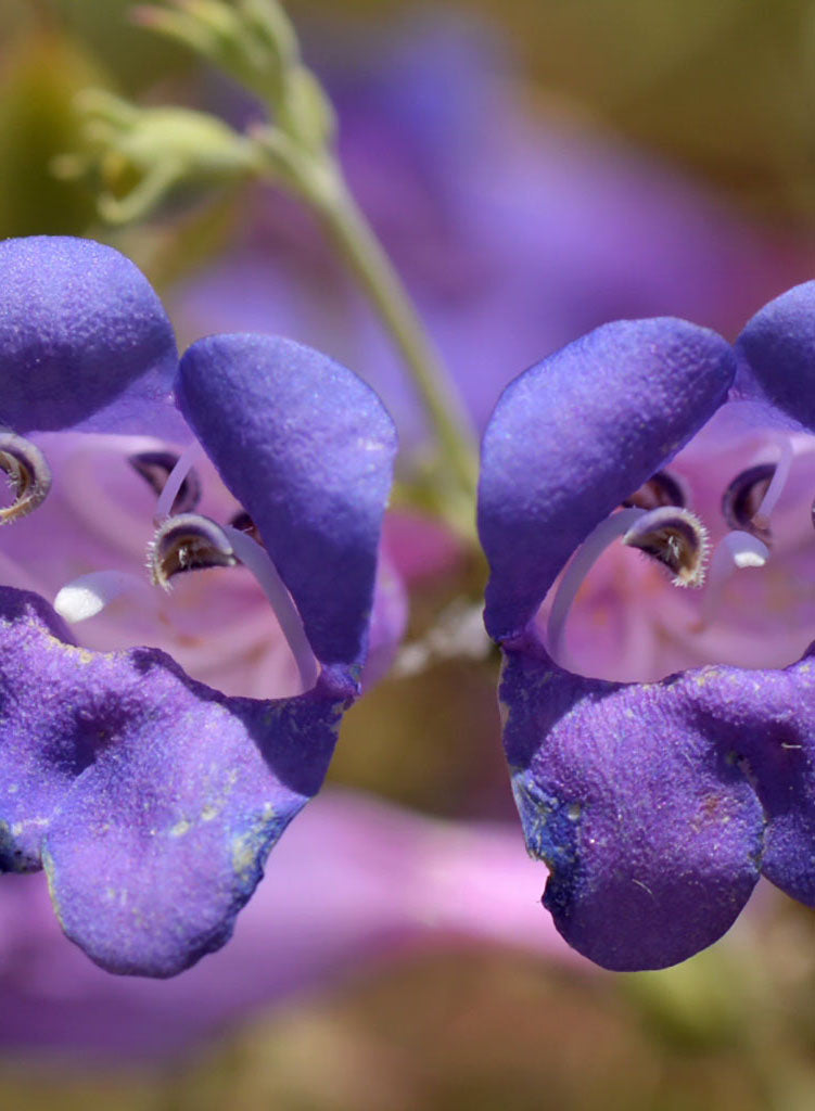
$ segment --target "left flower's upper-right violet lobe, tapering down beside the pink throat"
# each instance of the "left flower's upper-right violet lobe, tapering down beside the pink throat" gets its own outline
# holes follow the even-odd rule
[[[324,664],[361,663],[396,433],[356,374],[291,340],[216,336],[179,407],[249,512]]]

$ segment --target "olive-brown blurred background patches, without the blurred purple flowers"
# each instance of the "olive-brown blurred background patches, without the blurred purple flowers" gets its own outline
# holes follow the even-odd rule
[[[4,0],[0,236],[107,238],[166,289],[228,249],[239,199],[182,213],[158,239],[149,229],[111,233],[83,184],[50,170],[81,142],[72,98],[89,84],[195,103],[196,61],[131,26],[128,7]],[[358,27],[360,40],[372,29],[398,36],[418,10],[414,0],[287,8],[307,53],[338,22]],[[505,80],[533,116],[620,137],[761,233],[808,250],[815,3],[436,0],[426,10],[438,18],[446,9],[506,43],[516,61]],[[413,635],[463,575],[456,567],[417,585]],[[508,813],[494,679],[491,662],[453,661],[386,681],[351,714],[334,778],[429,812],[449,811],[453,792],[454,811],[478,813],[474,800],[496,791]],[[448,947],[349,971],[182,1060],[138,1069],[0,1047],[0,1107],[803,1111],[815,1107],[815,920],[766,894],[713,951],[640,975],[593,977],[516,952]]]

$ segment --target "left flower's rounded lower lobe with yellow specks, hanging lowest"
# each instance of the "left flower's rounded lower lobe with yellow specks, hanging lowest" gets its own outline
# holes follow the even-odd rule
[[[129,708],[77,781],[43,861],[62,929],[92,960],[168,977],[230,938],[269,850],[322,781],[339,709],[312,692],[207,702],[155,652],[133,657],[132,677],[142,712]]]

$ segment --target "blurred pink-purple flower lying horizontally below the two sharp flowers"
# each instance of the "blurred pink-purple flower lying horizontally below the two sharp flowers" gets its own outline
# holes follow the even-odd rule
[[[95,968],[64,944],[41,877],[14,878],[0,901],[0,1043],[170,1054],[362,962],[461,940],[579,967],[554,929],[541,931],[537,900],[517,897],[536,870],[503,824],[437,821],[327,789],[276,848],[230,944],[161,983]]]

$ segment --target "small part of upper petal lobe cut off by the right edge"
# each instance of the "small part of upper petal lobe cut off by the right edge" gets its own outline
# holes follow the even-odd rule
[[[782,293],[747,321],[735,342],[734,397],[779,410],[815,430],[815,281]]]

